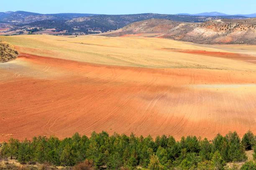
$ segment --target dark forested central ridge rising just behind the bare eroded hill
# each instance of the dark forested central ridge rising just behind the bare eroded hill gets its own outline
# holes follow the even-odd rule
[[[218,20],[223,17],[218,16],[190,16],[190,15],[167,15],[167,14],[131,14],[131,15],[92,15],[72,20],[42,20],[38,22],[28,23],[22,26],[55,28],[57,31],[68,30],[67,35],[84,35],[97,32],[107,32],[109,30],[117,30],[125,25],[141,21],[155,19],[174,20],[186,23],[202,23],[208,20]],[[244,19],[246,17],[227,16],[229,19]],[[93,32],[91,32],[93,31]]]

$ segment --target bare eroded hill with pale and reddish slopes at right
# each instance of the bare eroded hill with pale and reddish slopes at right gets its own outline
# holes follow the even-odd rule
[[[204,23],[184,23],[150,19],[127,25],[105,36],[161,37],[200,44],[256,44],[256,18],[245,20],[219,19]]]

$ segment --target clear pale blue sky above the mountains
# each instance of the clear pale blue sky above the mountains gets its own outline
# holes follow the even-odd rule
[[[0,12],[28,11],[34,13],[256,13],[256,0],[1,0]]]

